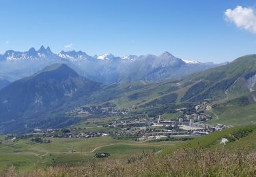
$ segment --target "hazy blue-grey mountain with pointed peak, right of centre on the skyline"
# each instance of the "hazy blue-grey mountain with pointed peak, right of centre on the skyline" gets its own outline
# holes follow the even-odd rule
[[[159,56],[152,54],[138,57],[122,72],[121,81],[161,81],[170,78],[182,78],[198,71],[216,67],[213,63],[186,63],[169,52]]]

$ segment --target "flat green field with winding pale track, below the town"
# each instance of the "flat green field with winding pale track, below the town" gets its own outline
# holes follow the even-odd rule
[[[114,140],[110,137],[50,138],[50,140],[50,144],[40,144],[30,140],[0,144],[0,171],[10,165],[14,165],[21,172],[63,163],[79,165],[94,161],[96,152],[110,153],[109,159],[128,159],[132,155],[156,152],[176,143],[141,143],[132,140]]]

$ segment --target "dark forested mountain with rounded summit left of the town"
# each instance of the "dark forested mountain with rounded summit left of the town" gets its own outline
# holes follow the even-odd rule
[[[48,117],[51,110],[68,103],[80,91],[83,96],[90,95],[100,85],[79,76],[62,63],[12,82],[0,91],[0,131],[16,126],[24,130],[29,125],[37,125]],[[65,118],[58,121],[62,123]]]

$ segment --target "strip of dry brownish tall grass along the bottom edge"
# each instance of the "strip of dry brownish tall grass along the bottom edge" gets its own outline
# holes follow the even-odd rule
[[[27,174],[18,174],[10,167],[1,176],[256,176],[256,153],[242,149],[180,149],[169,156],[150,154],[79,167],[59,165]]]

